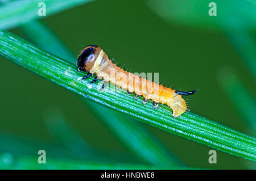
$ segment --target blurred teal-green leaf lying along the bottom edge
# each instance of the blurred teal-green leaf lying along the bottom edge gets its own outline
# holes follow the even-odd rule
[[[17,156],[10,153],[0,153],[0,169],[86,169],[86,170],[150,170],[150,169],[184,169],[184,167],[147,166],[125,163],[81,162],[72,159],[47,158],[47,164],[39,164],[38,157]],[[189,168],[196,169],[196,168]]]

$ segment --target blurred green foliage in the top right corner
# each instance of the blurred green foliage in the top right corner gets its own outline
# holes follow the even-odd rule
[[[209,16],[214,2],[217,16]],[[256,1],[254,0],[147,0],[162,18],[172,23],[215,30],[256,30]]]

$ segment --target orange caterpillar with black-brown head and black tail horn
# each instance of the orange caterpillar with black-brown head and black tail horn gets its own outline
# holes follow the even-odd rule
[[[77,71],[88,71],[82,79],[96,74],[90,83],[103,78],[105,82],[110,81],[122,89],[126,89],[128,94],[135,92],[134,98],[142,95],[143,103],[147,103],[151,99],[153,107],[158,107],[158,103],[167,104],[172,109],[172,116],[174,117],[180,116],[187,110],[187,104],[181,95],[192,95],[196,92],[196,90],[188,92],[172,90],[129,73],[113,64],[104,50],[97,45],[85,47],[77,58],[76,66]],[[102,89],[104,87],[105,83],[102,85]]]

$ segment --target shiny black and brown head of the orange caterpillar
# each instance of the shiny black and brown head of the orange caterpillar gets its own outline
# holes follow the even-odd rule
[[[77,58],[77,71],[90,71],[100,52],[101,48],[97,45],[89,45],[85,47]]]

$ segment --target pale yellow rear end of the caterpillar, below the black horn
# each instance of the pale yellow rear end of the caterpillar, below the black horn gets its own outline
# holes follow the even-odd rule
[[[181,95],[176,95],[167,101],[168,106],[172,108],[172,116],[180,116],[187,110],[187,104]]]

